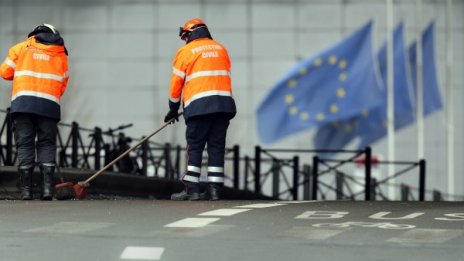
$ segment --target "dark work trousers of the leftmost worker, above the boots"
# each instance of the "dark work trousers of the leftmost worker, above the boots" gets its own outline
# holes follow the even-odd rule
[[[13,121],[18,168],[28,169],[35,162],[54,165],[58,120],[31,113],[14,113]]]

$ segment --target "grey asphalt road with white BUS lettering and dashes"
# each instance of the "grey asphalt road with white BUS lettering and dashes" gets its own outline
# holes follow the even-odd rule
[[[0,260],[464,260],[464,203],[3,200]]]

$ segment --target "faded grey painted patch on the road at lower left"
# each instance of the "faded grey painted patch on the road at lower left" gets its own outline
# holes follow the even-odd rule
[[[114,225],[114,223],[99,222],[60,222],[51,226],[37,227],[23,232],[32,233],[58,233],[58,234],[82,234],[100,228]]]

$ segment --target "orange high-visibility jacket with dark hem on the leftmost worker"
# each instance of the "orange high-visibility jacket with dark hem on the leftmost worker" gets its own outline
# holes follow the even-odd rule
[[[10,48],[0,75],[13,80],[11,112],[60,119],[60,98],[68,83],[68,59],[63,45],[42,44],[34,36]]]

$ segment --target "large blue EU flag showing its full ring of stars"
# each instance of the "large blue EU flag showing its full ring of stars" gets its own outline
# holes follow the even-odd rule
[[[348,118],[383,100],[372,54],[372,22],[292,68],[257,110],[261,141],[272,143]]]

